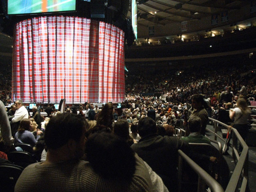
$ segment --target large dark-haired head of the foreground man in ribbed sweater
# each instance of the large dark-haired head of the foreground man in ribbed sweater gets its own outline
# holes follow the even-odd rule
[[[64,146],[69,148],[73,144],[75,158],[80,158],[84,154],[87,127],[88,123],[82,116],[71,113],[54,116],[46,126],[45,144],[49,151],[59,150]]]

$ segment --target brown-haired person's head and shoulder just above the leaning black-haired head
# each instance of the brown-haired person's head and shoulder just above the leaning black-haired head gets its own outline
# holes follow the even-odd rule
[[[117,135],[120,139],[123,139],[131,146],[134,141],[129,134],[129,125],[126,119],[120,119],[114,124],[113,133]]]

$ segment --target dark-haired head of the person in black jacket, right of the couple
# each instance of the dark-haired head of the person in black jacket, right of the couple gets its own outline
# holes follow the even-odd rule
[[[156,122],[150,117],[141,118],[138,122],[138,132],[141,137],[157,132]]]

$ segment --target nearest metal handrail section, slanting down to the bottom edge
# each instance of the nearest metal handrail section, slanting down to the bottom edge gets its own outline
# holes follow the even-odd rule
[[[196,164],[192,159],[190,159],[182,150],[178,150],[179,153],[179,167],[178,170],[182,170],[182,159],[183,158],[188,165],[198,174],[198,192],[204,192],[205,184],[207,184],[213,192],[224,192],[222,186],[210,176],[205,170],[203,170],[198,164]],[[180,158],[181,157],[181,158]],[[181,174],[179,173],[179,181],[181,181]],[[180,191],[180,188],[179,188]]]

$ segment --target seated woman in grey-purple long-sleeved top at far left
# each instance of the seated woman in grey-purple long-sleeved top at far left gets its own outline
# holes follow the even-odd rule
[[[36,138],[38,139],[39,132],[37,132],[37,137],[35,138],[34,134],[30,132],[30,129],[33,127],[33,122],[30,119],[24,119],[20,122],[20,128],[14,136],[14,145],[18,143],[27,143],[31,146],[36,145]]]

